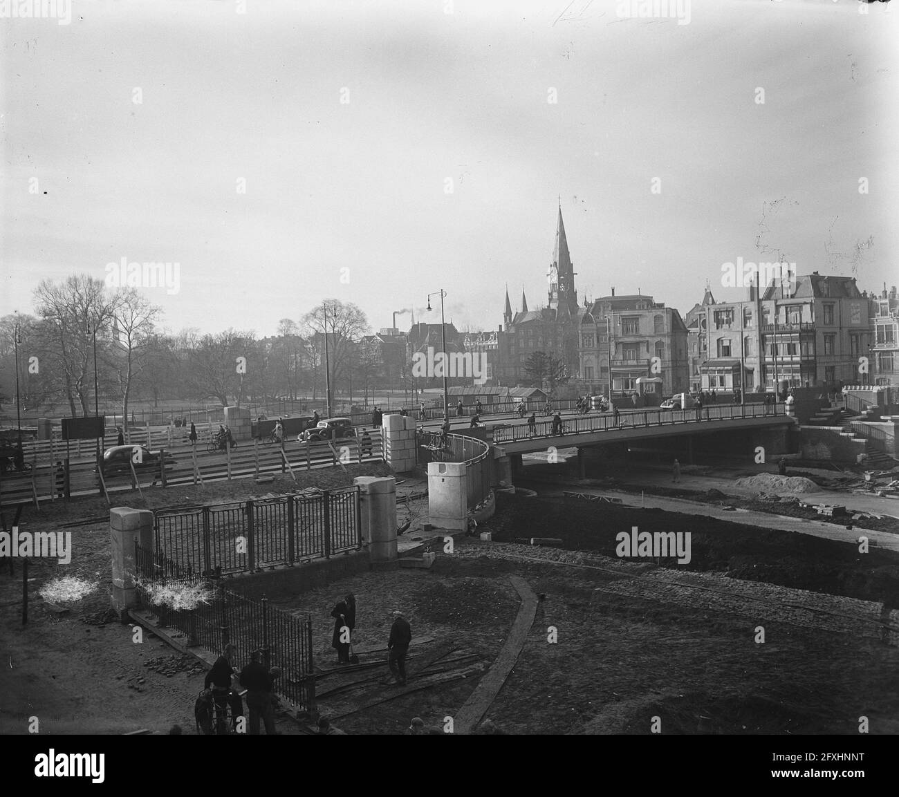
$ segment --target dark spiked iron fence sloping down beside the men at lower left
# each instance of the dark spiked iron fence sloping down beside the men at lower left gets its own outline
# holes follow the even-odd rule
[[[189,646],[222,651],[233,644],[232,666],[242,669],[252,651],[262,651],[266,667],[277,665],[281,677],[274,691],[304,710],[315,706],[312,620],[225,589],[218,578],[182,569],[161,553],[135,544],[138,607],[156,615],[187,637]],[[175,607],[175,606],[179,607]]]

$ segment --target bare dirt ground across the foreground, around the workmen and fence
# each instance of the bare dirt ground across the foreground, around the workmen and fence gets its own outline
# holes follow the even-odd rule
[[[640,734],[654,716],[664,733],[855,733],[862,715],[872,733],[899,732],[899,648],[895,635],[886,644],[877,623],[868,622],[881,608],[877,601],[896,594],[895,555],[872,552],[861,562],[846,552],[852,546],[813,537],[736,526],[712,536],[702,527],[708,518],[664,512],[637,518],[636,509],[619,517],[614,511],[623,509],[608,508],[599,514],[592,502],[573,510],[557,500],[501,501],[487,524],[498,542],[461,538],[456,553],[439,554],[431,570],[361,573],[273,603],[312,614],[322,693],[341,677],[326,672],[335,669],[329,616],[335,600],[355,593],[360,648],[386,642],[389,613],[403,609],[415,637],[433,638],[410,651],[412,685],[433,651],[485,664],[494,659],[519,608],[508,576],[521,575],[545,598],[487,713],[505,733]],[[102,514],[102,507],[77,510]],[[55,522],[64,519],[75,518]],[[33,516],[26,522],[34,523]],[[692,531],[695,567],[610,558],[613,532],[631,525]],[[0,570],[0,694],[12,697],[0,705],[0,732],[26,732],[26,718],[37,716],[42,732],[166,732],[178,723],[192,733],[202,673],[152,635],[138,644],[129,626],[98,624],[108,620],[109,530],[105,522],[72,530],[67,573],[99,586],[67,614],[32,598],[22,627],[21,563],[13,576],[5,563]],[[522,531],[563,537],[565,548],[514,544]],[[31,569],[32,597],[56,569]],[[764,642],[756,641],[760,625]],[[556,642],[547,639],[550,627]],[[375,663],[386,655],[360,658]],[[369,693],[396,694],[381,677],[385,668],[372,672]],[[360,711],[352,710],[352,692],[325,696],[320,709],[349,733],[397,734],[413,716],[441,725],[476,682],[460,678]],[[282,717],[279,730],[299,729]]]

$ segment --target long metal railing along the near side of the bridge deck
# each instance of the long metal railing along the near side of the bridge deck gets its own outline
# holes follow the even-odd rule
[[[654,426],[674,426],[681,423],[705,421],[736,421],[744,418],[763,418],[786,413],[785,404],[711,404],[698,413],[690,410],[659,410],[651,408],[636,412],[622,412],[618,418],[611,413],[587,415],[583,418],[564,418],[561,429],[553,429],[552,421],[539,421],[533,428],[528,424],[494,429],[494,443],[515,443],[520,440],[554,438],[606,429],[642,429]]]

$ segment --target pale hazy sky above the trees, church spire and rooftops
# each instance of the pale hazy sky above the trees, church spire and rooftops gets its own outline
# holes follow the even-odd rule
[[[737,258],[899,283],[895,3],[640,5],[2,18],[0,315],[124,258],[173,263],[176,290],[141,288],[170,332],[270,335],[325,298],[375,330],[440,323],[441,288],[447,321],[495,329],[507,285],[513,310],[522,288],[546,304],[559,205],[582,302],[743,298]]]

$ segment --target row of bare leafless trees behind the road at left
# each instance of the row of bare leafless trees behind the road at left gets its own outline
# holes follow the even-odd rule
[[[363,340],[368,319],[352,303],[329,299],[325,306],[332,389],[367,392],[382,370],[379,351]],[[325,392],[324,316],[318,306],[297,321],[282,319],[278,334],[262,339],[253,330],[170,333],[160,325],[161,308],[135,288],[108,288],[85,274],[45,279],[34,291],[33,314],[0,318],[0,403],[15,412],[17,328],[22,412],[61,404],[73,417],[93,415],[94,340],[101,409],[113,403],[126,420],[138,399],[239,406],[315,398]]]

